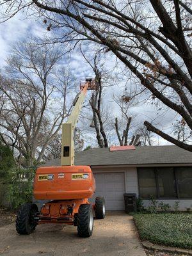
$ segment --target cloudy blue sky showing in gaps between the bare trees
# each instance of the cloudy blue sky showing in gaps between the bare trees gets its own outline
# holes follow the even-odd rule
[[[7,20],[4,23],[0,24],[0,45],[1,45],[1,51],[0,51],[0,68],[2,69],[5,64],[6,56],[8,56],[11,53],[11,47],[14,45],[17,41],[21,40],[24,41],[26,38],[30,38],[31,36],[39,36],[44,37],[47,35],[50,35],[51,32],[47,32],[43,22],[40,22],[35,19],[26,19],[21,14],[15,15],[10,20]],[[60,45],[61,46],[61,45]],[[111,59],[111,56],[106,57],[107,65],[108,67],[113,67],[114,60]],[[68,65],[69,59],[67,58],[67,65]],[[63,65],[66,64],[65,59],[63,59]],[[86,76],[92,76],[93,72],[92,69],[89,67],[89,65],[86,63],[86,61],[83,60],[83,57],[81,56],[81,53],[79,52],[79,49],[76,49],[73,52],[70,52],[70,67],[72,68],[72,72],[76,74],[77,79],[84,79]],[[112,95],[113,93],[119,93],[120,86],[113,86],[113,88],[109,88],[106,90],[106,97],[105,104],[109,106],[109,108],[113,109],[113,113],[115,115],[119,115],[119,109],[115,105],[114,102],[112,102]],[[89,94],[88,94],[89,95]],[[157,112],[154,111],[154,107],[148,103],[145,105],[140,105],[132,108],[132,113],[136,116],[136,124],[142,124],[144,120],[152,120],[156,118]],[[167,132],[170,129],[170,124],[173,122],[173,119],[175,117],[172,115],[172,113],[169,111],[166,113],[166,115],[163,116],[161,127],[163,127],[165,132]],[[89,130],[90,131],[90,130]],[[89,133],[89,140],[92,140],[92,132]],[[164,141],[162,138],[156,137],[156,141],[160,145],[166,145],[168,144],[167,141]],[[95,143],[95,146],[97,143]]]

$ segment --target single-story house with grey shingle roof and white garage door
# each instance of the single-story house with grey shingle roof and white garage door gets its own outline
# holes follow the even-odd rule
[[[171,207],[179,201],[180,210],[192,209],[192,152],[177,146],[91,148],[78,152],[75,164],[91,166],[95,196],[104,196],[107,210],[124,210],[124,193],[136,193],[145,206],[153,196]],[[60,166],[60,159],[44,166]]]

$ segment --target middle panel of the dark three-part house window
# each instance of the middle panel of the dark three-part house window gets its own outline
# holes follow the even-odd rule
[[[177,197],[173,168],[157,168],[157,177],[159,185],[159,197]]]

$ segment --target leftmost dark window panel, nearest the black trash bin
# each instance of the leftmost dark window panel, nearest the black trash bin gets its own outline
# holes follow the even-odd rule
[[[139,188],[141,198],[156,198],[156,177],[154,168],[138,168]]]

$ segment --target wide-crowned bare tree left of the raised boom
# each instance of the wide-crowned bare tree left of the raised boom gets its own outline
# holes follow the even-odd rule
[[[47,45],[18,44],[0,80],[1,139],[18,150],[26,166],[42,160],[47,145],[70,113],[67,95],[74,77],[56,70],[60,53]],[[69,103],[69,102],[68,102]]]

